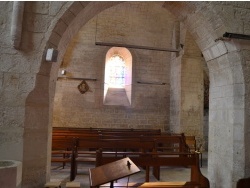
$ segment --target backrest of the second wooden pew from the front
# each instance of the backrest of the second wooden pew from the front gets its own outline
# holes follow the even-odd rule
[[[159,146],[163,144],[163,146]],[[186,152],[182,138],[178,136],[163,137],[98,137],[98,138],[78,138],[76,147],[77,162],[95,162],[93,152],[99,148],[105,151],[166,151]],[[158,175],[159,176],[159,175]],[[159,179],[159,178],[158,178]]]

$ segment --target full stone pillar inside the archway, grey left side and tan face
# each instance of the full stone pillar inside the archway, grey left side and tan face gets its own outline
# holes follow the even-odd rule
[[[198,142],[203,143],[203,58],[182,24],[180,30],[175,30],[173,38],[178,32],[179,43],[184,49],[178,57],[172,56],[171,61],[170,129],[174,133],[195,135]]]

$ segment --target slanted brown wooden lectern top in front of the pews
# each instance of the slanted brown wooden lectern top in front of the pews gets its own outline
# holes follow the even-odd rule
[[[98,187],[110,182],[114,187],[114,181],[140,172],[140,169],[128,158],[114,161],[96,168],[89,169],[90,187]]]

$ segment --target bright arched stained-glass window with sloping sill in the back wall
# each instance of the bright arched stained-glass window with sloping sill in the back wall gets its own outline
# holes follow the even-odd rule
[[[104,80],[104,105],[131,105],[132,56],[128,49],[109,49],[106,54]]]

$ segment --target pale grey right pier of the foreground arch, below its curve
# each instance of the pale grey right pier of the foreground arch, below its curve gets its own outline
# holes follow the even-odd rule
[[[211,52],[211,57],[215,57]],[[238,52],[230,52],[208,61],[208,178],[211,187],[235,188],[238,179],[245,174],[245,86],[240,56]]]

